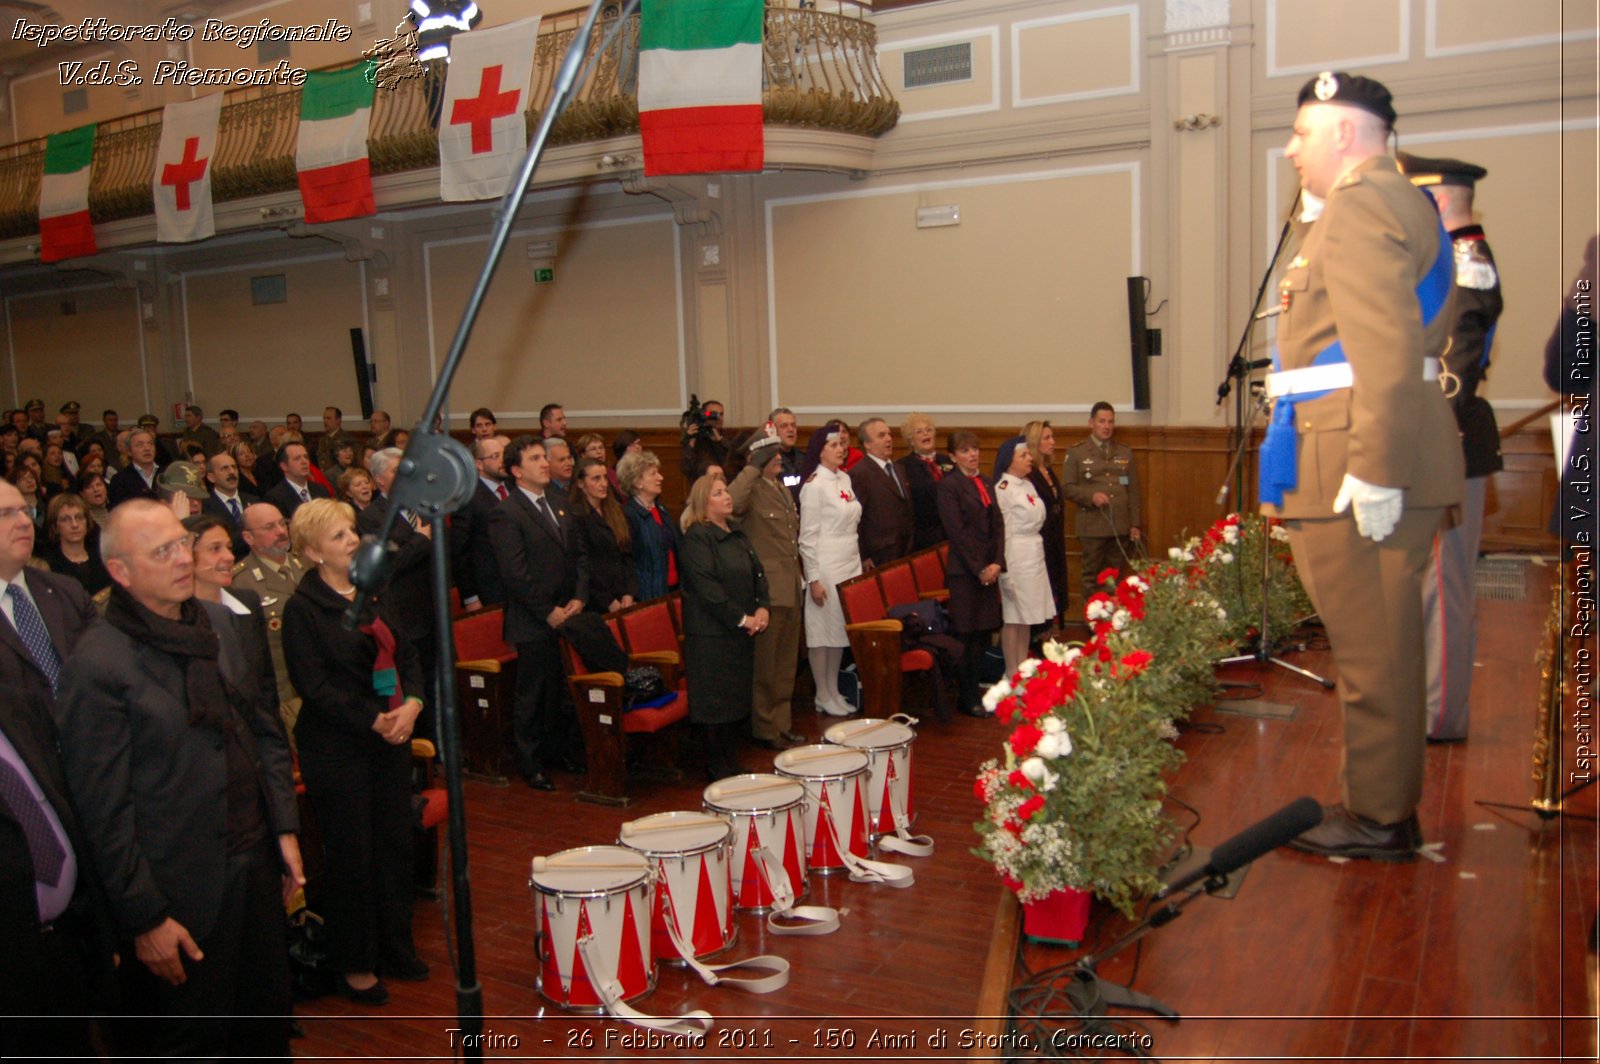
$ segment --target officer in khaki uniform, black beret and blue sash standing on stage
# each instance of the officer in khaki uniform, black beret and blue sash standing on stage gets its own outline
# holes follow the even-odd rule
[[[1282,517],[1328,629],[1344,710],[1344,802],[1291,846],[1411,861],[1421,843],[1422,573],[1461,501],[1440,390],[1450,240],[1387,154],[1395,110],[1365,77],[1299,94],[1285,155],[1322,216],[1283,272],[1262,510]]]

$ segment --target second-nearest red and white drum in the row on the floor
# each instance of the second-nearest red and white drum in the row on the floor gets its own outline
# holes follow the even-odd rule
[[[728,821],[709,813],[656,813],[622,824],[618,842],[656,866],[650,928],[661,962],[683,963],[672,930],[696,958],[715,957],[733,946],[738,931]]]

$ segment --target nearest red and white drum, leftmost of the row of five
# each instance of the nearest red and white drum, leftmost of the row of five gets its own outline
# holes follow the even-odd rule
[[[656,882],[642,853],[579,846],[534,858],[528,886],[534,894],[539,994],[547,1002],[598,1013],[606,1003],[597,987],[606,979],[622,987],[624,1002],[654,989],[650,912]],[[579,949],[584,938],[589,941]]]

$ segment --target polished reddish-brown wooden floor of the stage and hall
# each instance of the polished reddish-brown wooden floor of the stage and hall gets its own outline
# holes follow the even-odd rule
[[[1138,954],[1107,960],[1101,974],[1133,978],[1179,1013],[1179,1022],[1123,1013],[1122,1030],[1147,1035],[1165,1061],[1245,1059],[1595,1059],[1595,976],[1586,942],[1595,920],[1594,821],[1541,821],[1518,810],[1531,797],[1534,650],[1549,603],[1549,570],[1530,566],[1525,602],[1480,603],[1480,653],[1472,738],[1427,750],[1421,818],[1442,861],[1405,866],[1330,862],[1288,851],[1259,859],[1234,898],[1200,898],[1182,918],[1147,936]],[[1293,654],[1331,672],[1325,651]],[[1202,814],[1192,838],[1218,842],[1299,795],[1336,800],[1338,706],[1330,693],[1285,672],[1235,666],[1224,678],[1259,682],[1261,698],[1293,706],[1288,718],[1205,707],[1181,746],[1189,755],[1173,794]],[[1248,696],[1250,693],[1245,693]],[[797,712],[802,731],[818,717]],[[731,957],[758,952],[790,960],[789,987],[765,997],[707,987],[661,968],[638,1006],[654,1014],[702,1008],[717,1018],[701,1050],[648,1048],[645,1034],[614,1021],[574,1018],[534,989],[530,859],[614,840],[624,819],[699,806],[699,782],[643,789],[626,811],[579,805],[576,779],[558,794],[522,784],[467,784],[472,906],[485,1029],[499,1042],[486,1056],[955,1059],[1034,1056],[1038,1027],[1022,1022],[1003,1048],[974,1053],[979,989],[990,952],[1021,986],[1030,973],[1078,952],[1014,949],[995,934],[1003,894],[992,870],[968,853],[978,805],[976,766],[998,750],[1002,725],[958,718],[925,723],[915,746],[918,829],[934,856],[894,858],[915,869],[915,886],[891,890],[811,877],[811,901],[840,907],[832,936],[771,938],[755,917],[738,917]],[[685,757],[693,757],[685,749]],[[746,752],[762,771],[770,754]],[[1594,816],[1595,792],[1568,803]],[[1179,822],[1192,818],[1174,810]],[[1237,877],[1235,877],[1237,878]],[[445,947],[445,914],[416,909],[416,939],[434,978],[392,982],[386,1008],[342,998],[301,1005],[307,1037],[298,1056],[448,1059],[456,1013]],[[1123,928],[1096,907],[1090,946]],[[1061,1029],[1058,1014],[1043,1030]],[[1005,1024],[1000,1024],[1005,1029]],[[1048,1035],[1046,1035],[1048,1037]],[[515,1038],[515,1046],[509,1040]],[[1085,1053],[1096,1056],[1096,1053]],[[1102,1053],[1118,1056],[1118,1053]]]

